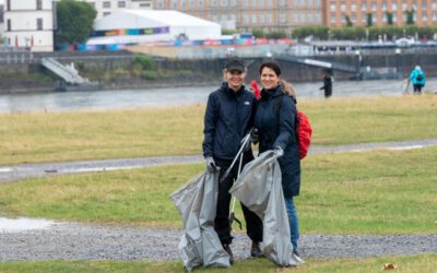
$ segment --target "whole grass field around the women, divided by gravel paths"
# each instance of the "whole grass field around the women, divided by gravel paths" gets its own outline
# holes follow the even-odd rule
[[[437,96],[302,100],[314,144],[437,138]],[[0,115],[0,165],[200,154],[203,106]],[[310,155],[296,199],[304,234],[435,234],[437,147]],[[0,215],[179,227],[168,195],[203,165],[26,179],[0,185]],[[237,215],[241,215],[237,211]],[[308,260],[280,269],[265,259],[199,272],[436,272],[437,254]],[[0,272],[184,272],[180,262],[3,262]]]

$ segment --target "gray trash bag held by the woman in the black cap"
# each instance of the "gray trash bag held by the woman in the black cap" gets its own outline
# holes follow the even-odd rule
[[[217,192],[218,173],[204,171],[170,194],[184,221],[178,250],[189,271],[196,266],[231,266],[214,230]]]

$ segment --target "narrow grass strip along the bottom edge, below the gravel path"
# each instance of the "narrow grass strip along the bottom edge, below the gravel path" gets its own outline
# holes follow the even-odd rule
[[[196,272],[302,272],[302,273],[369,273],[381,272],[383,264],[394,264],[394,272],[417,273],[435,272],[437,254],[421,254],[412,257],[383,257],[369,259],[333,259],[307,260],[297,268],[279,268],[267,259],[236,261],[229,269],[199,269]],[[149,261],[37,261],[37,262],[3,262],[0,272],[4,273],[62,273],[62,272],[132,272],[132,273],[167,273],[187,272],[181,262],[149,262]],[[390,272],[390,271],[388,271]]]

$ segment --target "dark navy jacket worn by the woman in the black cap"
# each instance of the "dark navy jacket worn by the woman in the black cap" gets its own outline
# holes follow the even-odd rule
[[[211,93],[204,116],[203,156],[234,159],[241,139],[253,127],[255,109],[256,98],[245,86],[234,92],[227,83],[223,83]],[[246,154],[250,155],[251,150]]]

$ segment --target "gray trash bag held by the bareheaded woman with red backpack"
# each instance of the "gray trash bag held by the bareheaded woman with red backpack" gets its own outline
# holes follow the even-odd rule
[[[282,174],[274,151],[248,163],[229,192],[262,219],[262,253],[281,266],[303,263],[293,254]]]

